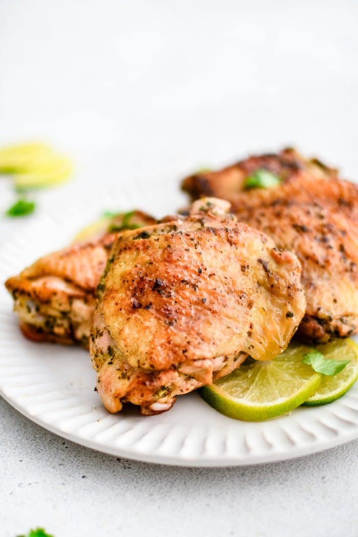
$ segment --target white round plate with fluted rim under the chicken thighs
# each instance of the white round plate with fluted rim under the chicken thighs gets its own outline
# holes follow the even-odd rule
[[[0,281],[67,244],[103,208],[173,211],[182,203],[176,188],[131,185],[100,201],[82,199],[86,215],[74,204],[35,220],[3,246]],[[133,408],[109,414],[94,392],[88,353],[26,340],[11,310],[12,299],[1,286],[0,394],[33,422],[83,446],[168,465],[239,466],[308,455],[358,438],[358,383],[330,405],[302,407],[262,423],[223,416],[195,393],[179,397],[172,410],[158,416],[142,417]]]

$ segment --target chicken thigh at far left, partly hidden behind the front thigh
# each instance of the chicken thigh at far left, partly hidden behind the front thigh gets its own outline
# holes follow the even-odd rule
[[[128,214],[124,224],[129,227],[156,222],[140,211],[130,213],[130,219]],[[113,217],[109,227],[121,229],[123,217]],[[108,229],[106,226],[91,240],[76,242],[40,258],[5,282],[27,338],[88,346],[96,289],[118,235]]]

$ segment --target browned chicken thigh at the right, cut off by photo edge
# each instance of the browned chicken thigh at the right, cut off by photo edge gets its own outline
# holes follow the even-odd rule
[[[283,154],[287,151],[276,155],[276,170],[272,162],[267,166],[278,175]],[[358,331],[358,186],[317,161],[299,157],[300,168],[294,155],[297,172],[281,175],[280,186],[243,191],[240,179],[224,194],[225,170],[216,172],[210,185],[231,202],[238,220],[264,231],[280,249],[296,253],[307,301],[297,337],[324,343]],[[252,157],[243,163],[257,161],[265,168],[266,159]],[[247,167],[243,163],[240,170]],[[254,171],[251,164],[249,171]],[[189,190],[186,182],[184,188]]]

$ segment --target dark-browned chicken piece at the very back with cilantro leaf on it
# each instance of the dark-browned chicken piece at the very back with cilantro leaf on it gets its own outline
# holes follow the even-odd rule
[[[279,175],[285,183],[303,177],[338,177],[337,170],[328,168],[317,158],[304,158],[295,149],[288,148],[277,154],[252,156],[222,170],[195,173],[183,180],[182,190],[193,199],[215,196],[232,201],[232,196],[243,189],[246,177],[262,168]]]

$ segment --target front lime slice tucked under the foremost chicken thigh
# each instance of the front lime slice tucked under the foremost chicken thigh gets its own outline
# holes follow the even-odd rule
[[[260,422],[280,416],[299,407],[319,388],[322,375],[302,363],[303,354],[310,350],[293,343],[273,360],[246,361],[199,393],[231,418]]]

